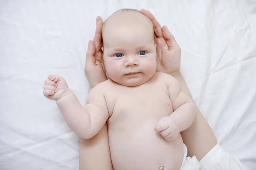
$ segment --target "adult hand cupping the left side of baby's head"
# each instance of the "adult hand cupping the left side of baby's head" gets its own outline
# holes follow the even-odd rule
[[[90,88],[93,88],[100,82],[107,80],[103,64],[102,47],[102,18],[96,18],[96,31],[92,40],[89,40],[86,53],[86,62],[84,73],[88,79]]]

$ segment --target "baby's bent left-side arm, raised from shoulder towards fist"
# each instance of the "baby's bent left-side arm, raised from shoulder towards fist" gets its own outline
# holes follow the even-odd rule
[[[76,135],[84,139],[92,138],[102,129],[109,117],[108,108],[101,89],[99,86],[93,88],[87,97],[87,105],[83,107],[67,85],[66,88],[61,88],[61,85],[67,84],[65,79],[58,75],[54,75],[54,77],[56,77],[54,80],[57,84],[56,86],[57,88],[60,86],[60,89],[54,94],[49,95],[48,98],[56,100],[67,125]],[[58,95],[59,92],[64,93]]]

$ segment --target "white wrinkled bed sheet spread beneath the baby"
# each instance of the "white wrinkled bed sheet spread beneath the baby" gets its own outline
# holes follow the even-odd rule
[[[79,169],[79,138],[43,96],[44,79],[61,74],[85,104],[96,16],[121,8],[168,26],[218,142],[256,169],[256,0],[0,0],[0,169]]]

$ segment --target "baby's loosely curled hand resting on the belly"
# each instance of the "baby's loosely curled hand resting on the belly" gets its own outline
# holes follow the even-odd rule
[[[172,116],[162,118],[154,130],[160,132],[161,136],[167,141],[175,139],[180,132],[179,124]]]

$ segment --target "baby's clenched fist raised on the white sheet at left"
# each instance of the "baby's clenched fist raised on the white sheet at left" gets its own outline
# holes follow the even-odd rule
[[[44,96],[51,100],[59,100],[69,92],[66,80],[59,75],[49,75],[44,81]]]

